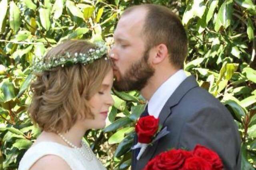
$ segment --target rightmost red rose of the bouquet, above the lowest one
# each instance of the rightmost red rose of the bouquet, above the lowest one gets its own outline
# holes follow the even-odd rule
[[[195,156],[204,158],[207,162],[212,164],[213,170],[222,170],[223,164],[220,157],[218,156],[218,154],[216,154],[216,152],[210,150],[209,148],[197,144],[194,148],[193,154]]]

